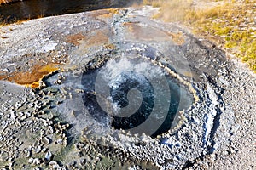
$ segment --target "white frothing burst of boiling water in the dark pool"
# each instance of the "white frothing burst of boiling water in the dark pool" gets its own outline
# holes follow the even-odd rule
[[[149,90],[151,85],[148,82],[148,79],[165,76],[164,71],[162,71],[160,67],[156,67],[150,62],[145,62],[142,59],[128,59],[127,57],[123,57],[119,60],[109,60],[107,65],[102,68],[101,72],[102,78],[105,79],[106,82],[108,82],[108,88],[113,89],[113,95],[119,96],[120,94],[122,94],[122,96],[125,97],[125,91],[119,91],[120,89],[124,90],[125,87],[123,86],[125,85],[127,86],[127,89],[131,88],[130,86],[133,86],[133,88],[143,90],[143,92],[145,93],[144,96],[147,95],[148,99],[154,99],[154,96],[151,96],[154,94],[152,94],[152,92],[150,92]],[[138,84],[134,86],[134,83],[137,82]],[[141,86],[143,86],[143,88]],[[142,95],[140,94],[141,92],[131,91],[128,92],[127,98],[129,98],[130,96],[130,99],[128,100],[134,101],[132,109],[135,109],[137,111],[137,109],[141,105]],[[108,96],[108,100],[111,101],[113,113],[117,115],[121,108],[121,105],[119,105],[120,99],[116,100]]]

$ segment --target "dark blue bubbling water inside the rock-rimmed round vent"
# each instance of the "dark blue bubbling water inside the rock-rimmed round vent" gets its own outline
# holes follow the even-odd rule
[[[109,60],[100,69],[84,72],[82,83],[86,89],[84,105],[91,116],[97,120],[110,116],[115,129],[153,137],[170,130],[181,110],[181,94],[186,92],[159,66],[129,57]]]

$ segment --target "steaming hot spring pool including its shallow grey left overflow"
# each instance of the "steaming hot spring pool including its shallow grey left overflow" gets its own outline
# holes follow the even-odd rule
[[[126,56],[109,59],[98,68],[95,65],[98,65],[96,60],[76,77],[72,72],[59,73],[66,77],[61,86],[71,87],[71,95],[76,95],[74,88],[83,90],[78,98],[67,101],[78,103],[79,100],[83,104],[79,105],[79,116],[74,120],[82,126],[79,130],[95,126],[103,131],[125,130],[157,137],[180,127],[183,111],[192,105],[193,95],[159,65],[150,59]],[[50,83],[57,75],[46,82]],[[53,83],[50,86],[55,87]],[[73,107],[65,105],[66,110]],[[66,119],[71,116],[64,115]],[[96,136],[99,131],[95,130]]]

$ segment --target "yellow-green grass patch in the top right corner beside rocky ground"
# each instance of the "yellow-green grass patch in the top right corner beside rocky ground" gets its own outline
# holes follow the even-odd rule
[[[153,2],[148,0],[145,4]],[[190,0],[157,2],[161,8],[155,18],[182,21],[195,34],[217,41],[256,73],[256,0],[212,0],[212,4],[218,4],[202,7]],[[204,0],[198,2],[207,4]]]

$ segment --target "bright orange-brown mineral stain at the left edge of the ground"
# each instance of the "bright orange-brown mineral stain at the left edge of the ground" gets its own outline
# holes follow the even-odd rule
[[[30,88],[38,88],[40,80],[49,73],[59,70],[61,65],[50,63],[48,65],[33,65],[31,71],[15,71],[0,75],[0,80],[8,80]]]

